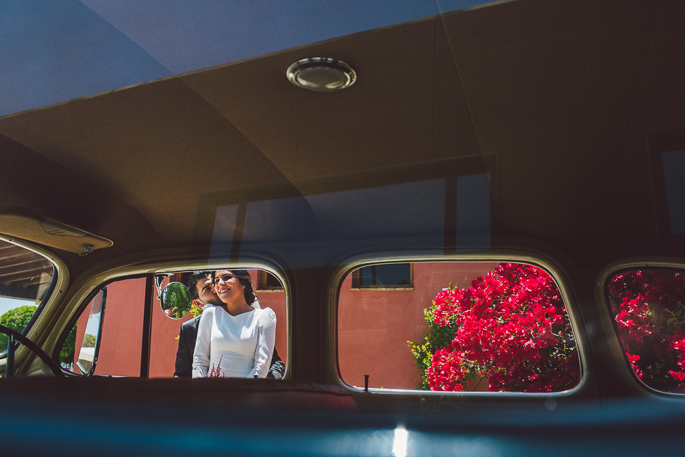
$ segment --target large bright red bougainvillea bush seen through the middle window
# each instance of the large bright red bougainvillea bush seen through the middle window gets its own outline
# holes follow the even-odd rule
[[[462,391],[487,380],[490,391],[558,392],[580,380],[566,308],[539,268],[501,263],[469,288],[440,292],[431,310],[434,324],[454,330],[425,371],[433,391]]]

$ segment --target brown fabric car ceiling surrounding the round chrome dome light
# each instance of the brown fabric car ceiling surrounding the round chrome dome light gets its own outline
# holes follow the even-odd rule
[[[101,17],[132,36],[119,16]],[[208,248],[198,234],[214,223],[200,217],[218,208],[212,195],[277,201],[474,157],[492,171],[495,157],[493,247],[535,240],[590,270],[682,256],[657,234],[645,138],[684,127],[684,18],[675,0],[505,1],[8,114],[0,202],[114,242],[85,260],[60,253],[81,271]],[[132,40],[148,40],[170,73],[187,68],[166,63],[153,33]],[[351,64],[358,81],[323,94],[288,82],[288,65],[320,55]]]

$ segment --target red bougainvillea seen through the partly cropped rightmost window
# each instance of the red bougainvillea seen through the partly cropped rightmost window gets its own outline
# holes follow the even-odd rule
[[[608,281],[607,294],[638,378],[660,391],[685,393],[685,275],[623,271]]]

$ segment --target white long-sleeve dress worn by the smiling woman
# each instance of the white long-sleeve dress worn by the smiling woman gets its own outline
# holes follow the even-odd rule
[[[265,378],[275,341],[276,314],[271,308],[232,316],[208,304],[197,327],[192,377],[208,378],[212,369],[219,369],[219,376],[227,378]]]

